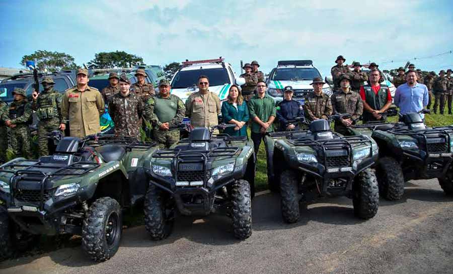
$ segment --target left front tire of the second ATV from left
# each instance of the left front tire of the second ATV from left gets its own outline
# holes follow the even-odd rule
[[[150,186],[145,196],[144,220],[145,228],[153,240],[162,240],[170,235],[174,219],[166,213],[164,199],[155,186]]]

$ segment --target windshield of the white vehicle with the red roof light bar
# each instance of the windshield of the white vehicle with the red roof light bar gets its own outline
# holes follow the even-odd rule
[[[206,75],[209,78],[209,85],[223,85],[230,83],[226,68],[194,69],[180,70],[173,78],[172,88],[186,88],[192,85],[198,85],[198,77]]]

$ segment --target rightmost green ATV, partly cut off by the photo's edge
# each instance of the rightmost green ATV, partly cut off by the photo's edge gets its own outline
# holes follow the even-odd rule
[[[387,200],[400,200],[405,181],[411,179],[437,178],[445,194],[453,195],[453,126],[428,128],[419,113],[400,114],[402,122],[369,122],[350,129],[351,135],[365,134],[378,144],[376,176]],[[395,109],[383,115],[396,114]]]

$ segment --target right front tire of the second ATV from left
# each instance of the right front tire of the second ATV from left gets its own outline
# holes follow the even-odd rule
[[[233,234],[240,240],[252,235],[252,198],[250,184],[246,180],[233,183],[232,191]]]

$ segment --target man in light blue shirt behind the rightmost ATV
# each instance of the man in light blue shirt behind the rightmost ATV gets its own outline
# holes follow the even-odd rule
[[[395,105],[400,108],[401,114],[418,113],[424,106],[428,105],[428,88],[426,85],[417,82],[417,72],[408,70],[406,72],[406,83],[398,86],[395,92]],[[422,119],[425,115],[420,113]]]

